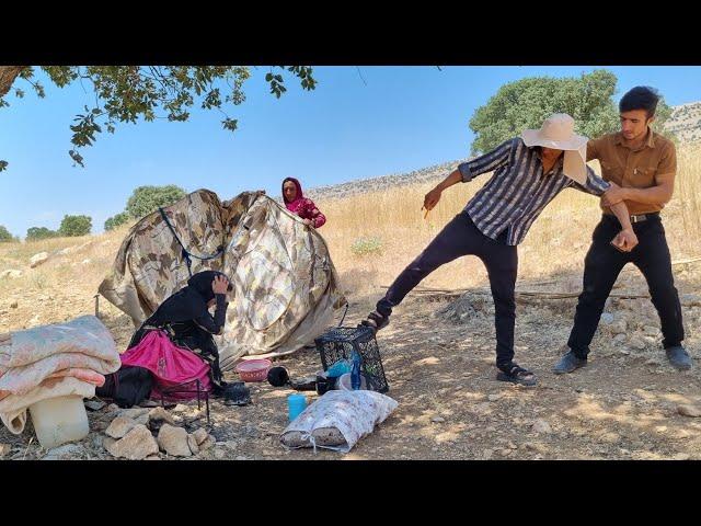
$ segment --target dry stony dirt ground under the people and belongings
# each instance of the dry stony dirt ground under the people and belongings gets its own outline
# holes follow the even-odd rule
[[[517,307],[516,361],[538,375],[539,385],[499,382],[489,296],[468,294],[457,301],[440,294],[410,295],[395,309],[391,324],[378,333],[388,396],[399,407],[350,453],[285,449],[279,436],[287,425],[286,397],[294,391],[261,382],[248,385],[250,405],[211,401],[208,431],[217,443],[188,459],[701,459],[701,419],[677,410],[679,404],[701,407],[701,270],[698,263],[686,266],[676,268],[676,278],[687,327],[685,344],[696,362],[690,371],[679,373],[667,363],[648,299],[611,299],[587,367],[553,375],[550,369],[563,351],[576,299],[547,299],[519,301]],[[579,279],[559,276],[556,289],[577,290]],[[552,287],[518,285],[543,291]],[[621,291],[644,294],[646,287],[639,273],[630,272],[617,284],[614,293]],[[380,294],[377,289],[350,296],[344,324],[363,319]],[[81,301],[80,313],[85,313],[85,300]],[[44,302],[66,309],[55,298]],[[12,318],[18,309],[0,307],[5,320],[18,327]],[[126,316],[107,306],[103,321],[123,346],[133,331]],[[276,365],[287,367],[292,378],[321,368],[313,348]],[[227,376],[237,379],[235,374]],[[308,395],[310,402],[317,397]],[[117,414],[114,409],[89,411],[91,434],[65,448],[61,458],[113,458],[103,447],[103,432]],[[171,412],[188,431],[207,426],[196,402]],[[31,424],[19,436],[2,427],[0,444],[9,445],[5,459],[47,456]],[[160,458],[169,457],[161,453]]]

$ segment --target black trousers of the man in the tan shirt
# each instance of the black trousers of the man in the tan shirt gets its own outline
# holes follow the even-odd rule
[[[683,340],[681,305],[659,215],[633,224],[639,244],[631,252],[619,252],[610,244],[620,229],[616,217],[605,215],[594,230],[593,243],[584,262],[583,290],[567,342],[579,358],[586,358],[589,353],[606,299],[627,263],[637,266],[647,281],[653,305],[659,315],[665,348],[679,345]]]

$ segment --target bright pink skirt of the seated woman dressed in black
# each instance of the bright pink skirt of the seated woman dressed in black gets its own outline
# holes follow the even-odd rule
[[[143,367],[153,374],[151,398],[189,400],[197,397],[197,380],[202,391],[211,391],[209,364],[192,351],[179,347],[164,331],[149,331],[138,345],[122,355],[123,366]],[[169,390],[193,392],[174,392]]]

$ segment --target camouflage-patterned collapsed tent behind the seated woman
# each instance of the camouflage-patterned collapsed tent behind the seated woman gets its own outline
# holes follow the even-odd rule
[[[198,190],[143,217],[100,293],[138,327],[187,284],[188,266],[193,274],[223,272],[233,284],[225,332],[216,336],[222,370],[248,354],[298,350],[346,304],[323,238],[261,192],[221,203]]]

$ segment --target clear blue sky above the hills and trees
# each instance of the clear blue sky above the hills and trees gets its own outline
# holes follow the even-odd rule
[[[140,185],[206,187],[222,199],[256,188],[277,195],[288,175],[311,187],[464,158],[470,117],[502,84],[599,68],[317,67],[314,91],[289,79],[277,100],[261,67],[244,84],[246,101],[228,111],[239,119],[233,134],[221,128],[218,112],[196,110],[187,123],[119,124],[81,151],[84,169],[68,157],[69,125],[94,96],[80,84],[44,81],[47,96],[37,99],[19,81],[25,98],[9,96],[11,106],[0,110],[0,159],[10,162],[0,172],[0,225],[24,237],[30,227],[57,229],[65,214],[85,214],[99,232]],[[648,84],[671,105],[701,101],[701,67],[607,69],[619,79],[618,95]]]

